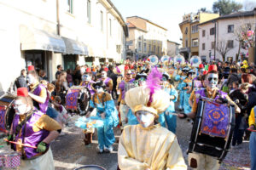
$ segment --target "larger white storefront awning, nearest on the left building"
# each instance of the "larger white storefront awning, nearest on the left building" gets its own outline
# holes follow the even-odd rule
[[[46,31],[20,26],[21,50],[45,50],[66,53],[61,37]]]

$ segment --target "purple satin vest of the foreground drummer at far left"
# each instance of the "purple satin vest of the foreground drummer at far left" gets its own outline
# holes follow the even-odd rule
[[[47,130],[39,130],[38,132],[33,131],[33,125],[38,122],[39,118],[43,116],[44,113],[41,111],[34,111],[32,113],[32,116],[28,121],[26,121],[26,132],[25,132],[25,140],[24,144],[29,144],[32,146],[37,146],[41,141],[43,141],[48,135],[49,131]],[[20,116],[15,115],[14,121],[13,121],[13,132],[16,133],[16,127],[18,126],[20,121]],[[24,126],[22,127],[20,137],[19,134],[16,135],[15,141],[17,142],[19,139],[22,141],[24,138]],[[15,147],[16,150],[16,147]],[[32,158],[33,156],[38,155],[38,152],[36,149],[30,148],[30,147],[24,147],[25,153],[26,153],[26,158]]]

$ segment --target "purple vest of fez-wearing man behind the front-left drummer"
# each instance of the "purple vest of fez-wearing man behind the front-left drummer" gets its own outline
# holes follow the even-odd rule
[[[39,96],[43,88],[45,88],[43,84],[38,84],[38,87],[34,89],[33,94]],[[45,88],[45,90],[46,90],[46,88]],[[45,99],[44,104],[40,104],[33,99],[34,106],[37,107],[38,110],[42,111],[43,113],[46,113],[47,108],[48,108],[48,103],[49,103],[49,94],[47,93],[47,90],[46,90],[46,94],[47,94],[47,97]]]

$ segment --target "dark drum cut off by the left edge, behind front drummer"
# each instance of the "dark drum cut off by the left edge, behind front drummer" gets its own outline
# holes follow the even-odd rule
[[[0,132],[7,133],[10,129],[15,116],[15,109],[13,103],[15,95],[4,94],[0,98]]]

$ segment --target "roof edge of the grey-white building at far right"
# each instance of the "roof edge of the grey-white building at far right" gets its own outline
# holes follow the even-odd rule
[[[210,22],[214,22],[216,20],[233,19],[233,18],[249,17],[249,16],[254,16],[254,11],[245,11],[245,12],[236,12],[236,13],[232,13],[232,14],[225,14],[216,19],[207,20],[206,22],[202,22],[201,24],[199,24],[199,26],[210,23]]]

